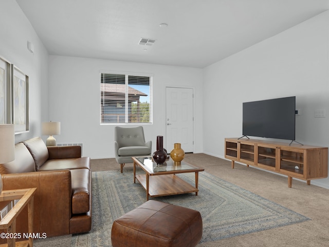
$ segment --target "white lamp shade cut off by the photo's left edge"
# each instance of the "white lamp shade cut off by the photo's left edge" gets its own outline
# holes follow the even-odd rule
[[[0,125],[0,164],[15,160],[14,125]]]

